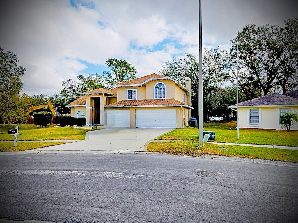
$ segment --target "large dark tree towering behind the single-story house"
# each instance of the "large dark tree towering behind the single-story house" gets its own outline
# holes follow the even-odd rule
[[[298,86],[297,37],[297,17],[286,20],[284,27],[252,23],[238,33],[239,84],[247,99]],[[230,55],[235,61],[236,38],[231,42]]]

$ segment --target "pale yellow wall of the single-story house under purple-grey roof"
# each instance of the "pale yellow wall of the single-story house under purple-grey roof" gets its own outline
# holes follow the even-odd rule
[[[259,125],[249,124],[249,109],[239,108],[239,128],[264,128],[264,129],[281,129],[279,124],[279,109],[289,108],[291,112],[298,114],[297,106],[285,107],[251,107],[259,109]],[[298,130],[298,123],[291,127],[291,130]]]

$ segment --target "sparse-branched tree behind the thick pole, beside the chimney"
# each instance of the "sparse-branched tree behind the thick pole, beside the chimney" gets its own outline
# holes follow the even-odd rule
[[[185,78],[190,78],[192,89],[193,115],[198,117],[198,61],[192,54],[186,54],[184,57],[173,59],[162,65],[160,74],[172,77],[181,84],[185,83]],[[223,84],[230,81],[230,75],[227,72],[229,67],[227,52],[220,48],[205,51],[202,60],[203,74],[203,107],[204,121],[209,120],[211,110],[221,106],[218,97]]]

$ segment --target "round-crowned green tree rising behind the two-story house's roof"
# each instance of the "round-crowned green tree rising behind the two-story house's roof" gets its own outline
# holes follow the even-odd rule
[[[123,59],[106,59],[105,64],[110,68],[103,72],[103,81],[108,88],[136,78],[136,67]]]

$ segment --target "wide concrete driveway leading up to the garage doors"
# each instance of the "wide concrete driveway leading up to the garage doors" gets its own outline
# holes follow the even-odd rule
[[[146,151],[146,143],[171,130],[169,128],[105,127],[87,132],[85,140],[79,142],[37,148],[31,151]]]

